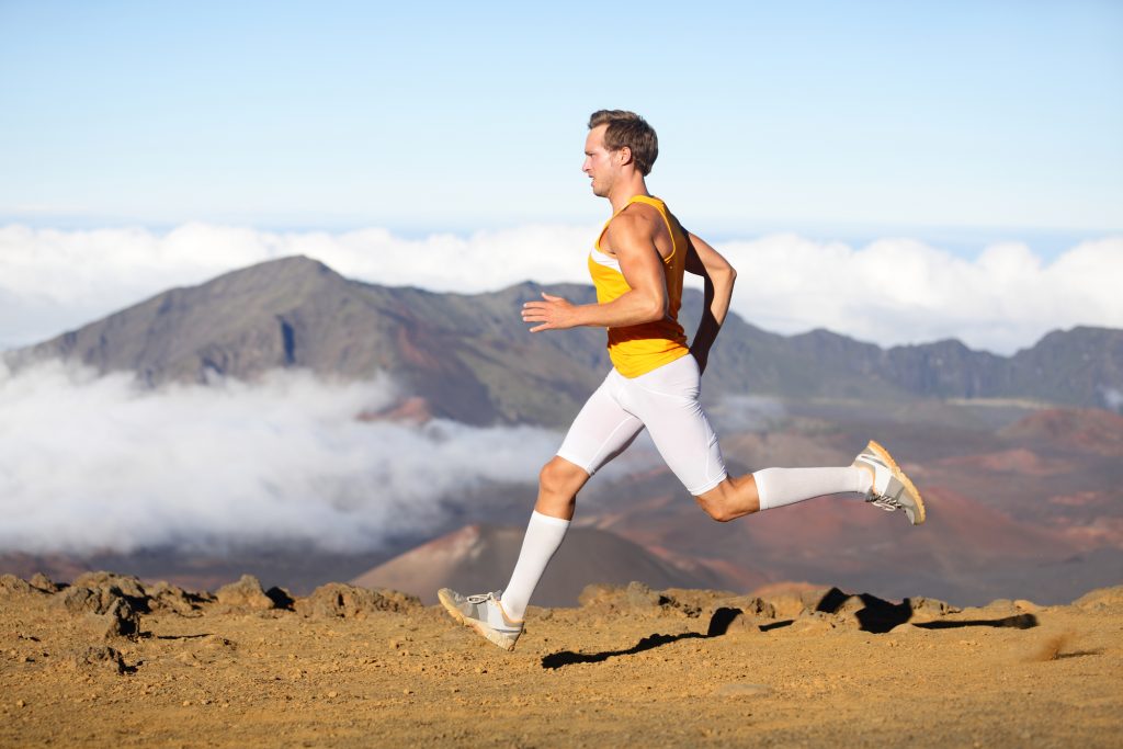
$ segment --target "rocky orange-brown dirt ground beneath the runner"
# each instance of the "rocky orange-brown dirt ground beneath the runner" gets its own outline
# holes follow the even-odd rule
[[[1123,746],[1123,587],[964,611],[591,587],[508,654],[390,592],[85,577],[0,577],[0,746]]]

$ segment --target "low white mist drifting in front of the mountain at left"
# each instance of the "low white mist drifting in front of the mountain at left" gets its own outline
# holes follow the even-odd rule
[[[377,549],[433,528],[474,486],[532,484],[560,441],[355,419],[392,399],[386,382],[292,372],[153,392],[57,362],[0,367],[0,550]]]

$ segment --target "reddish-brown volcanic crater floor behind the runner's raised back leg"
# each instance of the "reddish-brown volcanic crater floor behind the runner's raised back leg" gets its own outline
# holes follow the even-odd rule
[[[1042,424],[1051,435],[1044,441]],[[924,494],[928,522],[913,528],[900,513],[839,496],[714,523],[665,468],[586,492],[576,521],[700,563],[720,560],[734,578],[730,570],[743,568],[886,596],[920,586],[958,604],[1057,602],[1123,581],[1123,466],[1103,455],[1120,435],[1123,418],[1104,411],[1043,411],[1002,435],[794,418],[723,435],[731,471],[846,465],[876,436]]]

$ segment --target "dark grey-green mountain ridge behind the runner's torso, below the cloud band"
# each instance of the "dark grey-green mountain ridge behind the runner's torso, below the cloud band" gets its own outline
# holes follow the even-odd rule
[[[344,378],[390,374],[435,415],[467,423],[563,426],[608,369],[604,335],[529,335],[518,310],[542,291],[591,302],[588,286],[523,283],[464,295],[344,278],[290,257],[174,289],[53,340],[6,355],[19,368],[63,357],[152,385],[253,378],[305,367]],[[701,294],[684,296],[696,327]],[[958,341],[882,349],[825,330],[784,337],[731,314],[706,374],[710,396],[907,400],[1019,398],[1101,407],[1123,392],[1123,331],[1056,331],[1013,357]],[[1113,400],[1115,399],[1115,400]]]

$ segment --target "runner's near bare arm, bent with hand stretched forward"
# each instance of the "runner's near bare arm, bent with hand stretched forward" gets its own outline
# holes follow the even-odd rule
[[[544,293],[544,301],[522,305],[522,321],[540,323],[530,332],[578,326],[621,328],[661,320],[667,313],[667,277],[651,222],[624,212],[613,219],[604,236],[631,290],[605,304],[579,305]]]

